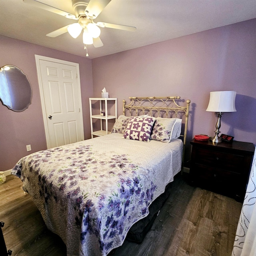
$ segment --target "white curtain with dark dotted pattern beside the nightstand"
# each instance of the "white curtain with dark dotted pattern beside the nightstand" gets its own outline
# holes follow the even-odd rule
[[[236,230],[232,256],[256,256],[256,150]]]

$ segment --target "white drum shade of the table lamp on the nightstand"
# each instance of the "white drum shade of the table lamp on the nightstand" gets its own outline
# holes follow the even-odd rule
[[[235,100],[235,91],[210,92],[210,101],[206,111],[235,112]]]

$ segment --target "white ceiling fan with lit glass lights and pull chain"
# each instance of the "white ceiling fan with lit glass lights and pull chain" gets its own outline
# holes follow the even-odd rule
[[[54,12],[66,18],[78,20],[78,22],[59,28],[46,36],[56,37],[68,32],[73,38],[77,38],[83,31],[83,42],[85,45],[93,44],[94,47],[103,46],[100,40],[100,28],[116,28],[120,30],[135,31],[132,26],[111,24],[107,22],[94,22],[94,19],[102,12],[111,0],[72,0],[72,8],[74,14],[70,14],[48,4],[44,4],[37,0],[23,0],[23,2],[35,7]],[[86,47],[85,47],[86,48]],[[86,54],[88,56],[88,54]]]

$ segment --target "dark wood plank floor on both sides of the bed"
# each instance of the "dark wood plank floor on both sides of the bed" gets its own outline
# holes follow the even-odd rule
[[[62,240],[49,230],[22,182],[0,185],[0,221],[12,256],[64,256]],[[174,180],[172,193],[141,244],[124,241],[113,256],[230,256],[242,203]],[[1,254],[1,253],[0,253]],[[1,254],[2,255],[2,254]]]

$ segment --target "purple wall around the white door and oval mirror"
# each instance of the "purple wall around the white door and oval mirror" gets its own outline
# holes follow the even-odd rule
[[[33,91],[32,104],[23,112],[14,112],[0,103],[0,170],[9,170],[23,156],[46,149],[35,54],[79,64],[84,138],[90,138],[88,98],[93,96],[91,60],[6,36],[0,36],[0,46],[0,67],[12,64],[20,68],[28,76]],[[26,151],[28,144],[31,144],[30,152]]]

